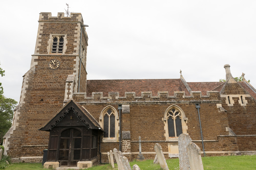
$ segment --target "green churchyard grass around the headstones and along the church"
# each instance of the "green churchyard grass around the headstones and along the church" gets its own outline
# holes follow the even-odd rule
[[[167,165],[170,170],[179,169],[179,159],[168,159],[166,160]],[[256,155],[242,155],[242,156],[212,156],[212,157],[202,157],[202,162],[204,164],[204,169],[225,169],[225,170],[235,170],[235,169],[256,169]],[[130,162],[131,167],[137,164],[141,170],[160,170],[159,164],[153,164],[153,160],[146,160],[140,162]],[[41,163],[14,163],[8,167],[7,170],[36,170],[43,169]],[[110,164],[101,164],[88,170],[102,170],[102,169],[112,169]],[[117,170],[117,164],[113,170]],[[46,170],[46,169],[44,169]]]

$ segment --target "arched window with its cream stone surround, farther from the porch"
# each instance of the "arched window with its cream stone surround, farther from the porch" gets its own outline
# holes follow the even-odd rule
[[[187,118],[184,111],[177,105],[172,104],[164,113],[164,129],[167,141],[178,141],[178,136],[187,134]]]

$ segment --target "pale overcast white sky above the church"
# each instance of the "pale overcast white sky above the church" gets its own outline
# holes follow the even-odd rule
[[[245,73],[256,87],[256,1],[2,1],[0,77],[19,100],[34,54],[40,12],[82,13],[89,37],[88,80],[225,79]]]

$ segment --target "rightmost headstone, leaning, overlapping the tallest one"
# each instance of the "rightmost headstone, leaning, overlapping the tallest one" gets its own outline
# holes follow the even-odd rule
[[[200,148],[193,142],[187,146],[188,160],[191,170],[203,170],[203,163],[201,158]]]

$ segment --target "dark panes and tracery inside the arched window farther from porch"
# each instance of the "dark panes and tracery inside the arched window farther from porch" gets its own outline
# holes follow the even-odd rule
[[[175,108],[168,111],[167,123],[169,137],[178,137],[182,134],[182,117],[180,111]]]

